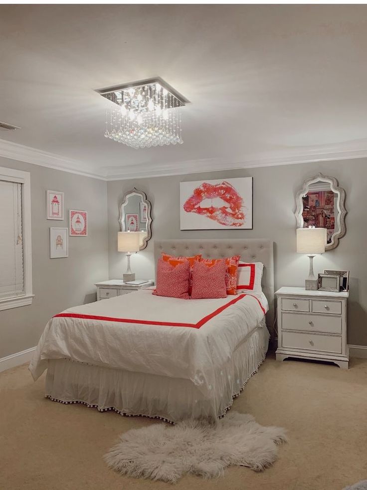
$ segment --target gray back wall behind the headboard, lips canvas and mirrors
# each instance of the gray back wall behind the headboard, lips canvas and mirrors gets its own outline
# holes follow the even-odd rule
[[[108,182],[109,278],[121,278],[126,257],[117,252],[118,206],[123,194],[136,187],[152,202],[153,237],[131,258],[137,278],[154,277],[155,238],[269,238],[275,242],[275,287],[304,286],[309,261],[296,253],[295,193],[303,180],[318,172],[332,175],[346,190],[347,234],[335,250],[317,256],[315,272],[351,271],[348,342],[367,345],[367,223],[365,195],[367,159],[304,163],[243,170],[205,172],[170,177]],[[200,178],[253,176],[253,230],[180,231],[180,182]]]

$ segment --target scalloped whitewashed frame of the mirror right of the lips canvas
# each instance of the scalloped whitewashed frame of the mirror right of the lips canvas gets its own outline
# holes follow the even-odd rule
[[[338,217],[335,222],[335,233],[332,236],[331,243],[328,243],[325,246],[325,251],[327,250],[332,250],[333,248],[336,248],[338,246],[340,238],[342,238],[346,234],[346,222],[345,222],[345,217],[347,214],[346,208],[345,208],[345,199],[346,199],[346,193],[345,190],[342,187],[339,187],[338,180],[335,177],[330,177],[328,175],[323,175],[322,173],[318,173],[317,175],[314,175],[313,177],[307,178],[302,185],[302,188],[297,192],[296,194],[296,211],[294,215],[296,216],[297,219],[297,228],[303,228],[303,217],[302,217],[302,211],[303,211],[303,202],[302,202],[302,197],[309,192],[310,185],[314,184],[316,182],[327,182],[330,184],[330,190],[332,190],[335,194],[337,194],[337,211],[338,211]]]

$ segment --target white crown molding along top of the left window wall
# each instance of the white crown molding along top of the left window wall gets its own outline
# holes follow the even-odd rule
[[[0,140],[0,157],[8,158],[10,160],[18,160],[20,162],[33,163],[33,165],[45,166],[53,168],[54,170],[61,170],[63,172],[76,173],[85,177],[98,178],[100,180],[106,180],[103,175],[97,173],[91,173],[87,170],[79,169],[83,168],[84,163],[78,160],[71,160],[61,155],[54,153],[43,152],[36,148],[19,145],[6,140]]]

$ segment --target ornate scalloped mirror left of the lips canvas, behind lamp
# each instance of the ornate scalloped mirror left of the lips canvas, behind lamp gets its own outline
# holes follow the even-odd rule
[[[140,250],[145,249],[152,238],[152,205],[145,192],[135,187],[126,192],[120,204],[120,231],[140,231]]]

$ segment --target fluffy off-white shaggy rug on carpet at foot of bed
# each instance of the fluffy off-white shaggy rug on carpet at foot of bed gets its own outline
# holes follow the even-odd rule
[[[184,420],[132,429],[106,455],[107,465],[123,475],[177,482],[184,473],[215,478],[230,465],[262,471],[277,459],[285,430],[263,427],[252,415],[231,412],[216,425]]]

